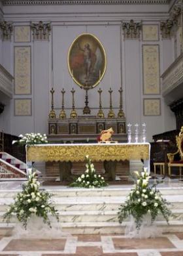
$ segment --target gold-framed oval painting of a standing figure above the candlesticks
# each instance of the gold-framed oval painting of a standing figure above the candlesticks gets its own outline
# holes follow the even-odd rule
[[[90,33],[79,35],[69,48],[68,67],[80,87],[95,87],[106,70],[105,49],[99,39]]]

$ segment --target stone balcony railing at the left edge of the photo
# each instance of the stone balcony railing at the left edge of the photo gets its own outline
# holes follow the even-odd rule
[[[13,94],[13,79],[14,77],[0,64],[0,91],[10,98]]]

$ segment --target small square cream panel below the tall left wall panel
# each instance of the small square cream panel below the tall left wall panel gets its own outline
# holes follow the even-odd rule
[[[14,99],[14,116],[31,116],[31,98]]]

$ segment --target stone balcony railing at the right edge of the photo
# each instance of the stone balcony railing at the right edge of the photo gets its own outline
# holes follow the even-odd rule
[[[163,96],[171,93],[173,89],[183,83],[183,53],[165,70],[161,78]]]

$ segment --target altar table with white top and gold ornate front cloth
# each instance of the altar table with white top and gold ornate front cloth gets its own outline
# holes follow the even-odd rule
[[[121,160],[143,160],[144,167],[150,171],[149,143],[34,144],[27,146],[26,152],[28,167],[33,161],[59,161],[61,181],[71,178],[72,163],[84,162],[86,155],[92,161],[103,161],[105,172],[113,181],[116,163]]]

